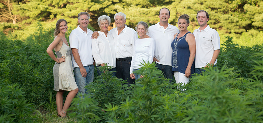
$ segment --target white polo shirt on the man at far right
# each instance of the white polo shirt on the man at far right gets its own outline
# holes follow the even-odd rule
[[[206,29],[201,30],[200,27],[193,31],[195,37],[195,68],[205,67],[210,63],[214,54],[214,50],[220,50],[220,37],[216,30],[207,25]],[[216,65],[215,60],[214,65]]]

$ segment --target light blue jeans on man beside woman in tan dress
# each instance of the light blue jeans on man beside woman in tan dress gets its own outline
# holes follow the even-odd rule
[[[74,68],[75,81],[78,85],[78,94],[88,93],[87,89],[85,89],[85,86],[87,84],[91,84],[90,82],[93,82],[94,78],[94,65],[84,66],[84,68],[87,71],[86,77],[82,77],[79,67]]]

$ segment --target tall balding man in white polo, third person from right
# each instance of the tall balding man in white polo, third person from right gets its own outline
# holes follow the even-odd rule
[[[163,71],[166,78],[173,79],[172,74],[172,41],[174,34],[179,33],[176,26],[168,23],[170,18],[170,10],[162,8],[159,11],[160,22],[149,27],[149,36],[155,40],[155,51],[153,62],[156,61],[157,68]]]

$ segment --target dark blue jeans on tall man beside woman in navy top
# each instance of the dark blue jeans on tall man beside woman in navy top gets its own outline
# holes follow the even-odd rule
[[[164,77],[168,78],[170,80],[170,83],[172,83],[172,79],[173,79],[172,66],[161,65],[156,63],[156,67],[157,69],[163,71]]]

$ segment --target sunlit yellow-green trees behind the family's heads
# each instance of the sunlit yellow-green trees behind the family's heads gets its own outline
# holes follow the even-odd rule
[[[176,25],[181,14],[188,14],[188,29],[193,32],[198,28],[196,12],[206,10],[210,14],[208,24],[218,30],[221,39],[231,35],[240,45],[252,46],[252,42],[253,45],[263,43],[262,6],[262,0],[1,0],[0,30],[12,34],[12,38],[26,39],[38,31],[38,23],[43,25],[43,30],[50,30],[58,19],[64,18],[71,31],[78,25],[77,14],[83,11],[91,14],[91,30],[99,30],[97,18],[101,15],[110,16],[114,27],[113,17],[117,12],[125,13],[126,24],[134,28],[139,21],[156,24],[159,10],[167,7],[172,25]]]

